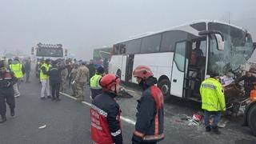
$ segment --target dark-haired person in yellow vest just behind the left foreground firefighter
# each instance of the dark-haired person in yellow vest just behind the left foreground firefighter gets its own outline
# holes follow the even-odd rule
[[[96,74],[90,78],[90,91],[92,99],[94,99],[98,94],[102,94],[102,86],[99,85],[99,80],[102,78],[104,72],[104,68],[99,66],[96,70]]]

